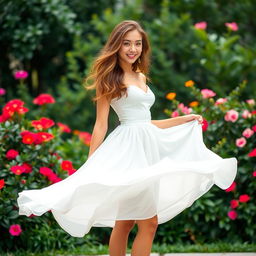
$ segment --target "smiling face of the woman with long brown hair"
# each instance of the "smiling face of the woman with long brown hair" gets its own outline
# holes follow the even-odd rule
[[[120,60],[129,64],[133,64],[140,57],[141,52],[141,34],[137,30],[127,32],[123,38],[121,48],[118,51]]]

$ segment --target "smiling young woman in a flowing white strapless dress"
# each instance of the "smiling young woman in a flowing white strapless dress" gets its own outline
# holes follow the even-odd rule
[[[111,256],[148,256],[158,224],[236,176],[236,158],[223,159],[202,138],[202,116],[151,120],[155,95],[147,81],[150,45],[133,20],[116,25],[86,81],[95,89],[96,122],[87,161],[70,177],[41,190],[19,193],[20,214],[51,210],[59,225],[82,237],[91,227],[112,227]],[[104,140],[110,106],[120,125]]]

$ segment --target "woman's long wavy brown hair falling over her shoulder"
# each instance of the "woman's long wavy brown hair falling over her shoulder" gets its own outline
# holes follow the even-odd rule
[[[127,88],[123,84],[124,71],[118,64],[118,51],[122,46],[122,40],[127,32],[137,30],[142,36],[142,52],[140,62],[138,59],[132,64],[133,71],[142,72],[147,80],[151,48],[146,32],[140,24],[134,20],[124,20],[117,24],[111,32],[106,44],[94,60],[89,75],[84,79],[84,87],[87,90],[96,89],[96,96],[92,101],[97,101],[103,96],[108,100],[114,97],[120,98]],[[93,81],[92,85],[89,81]]]

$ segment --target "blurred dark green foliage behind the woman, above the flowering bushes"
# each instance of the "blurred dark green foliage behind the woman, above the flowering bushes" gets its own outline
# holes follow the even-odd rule
[[[165,95],[176,92],[188,103],[184,81],[211,88],[224,96],[247,80],[244,97],[255,96],[254,1],[1,1],[0,87],[6,100],[17,96],[12,76],[18,69],[30,73],[28,93],[52,93],[59,103],[52,117],[74,129],[92,129],[94,92],[82,87],[90,64],[113,27],[124,19],[139,21],[152,45],[150,85],[157,100],[153,118],[163,118]],[[207,22],[206,30],[194,28]],[[225,22],[236,22],[230,31]],[[61,110],[58,109],[61,106]],[[110,127],[117,124],[110,114]]]

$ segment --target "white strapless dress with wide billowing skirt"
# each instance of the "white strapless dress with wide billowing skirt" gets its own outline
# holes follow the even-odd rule
[[[237,173],[235,157],[209,150],[197,120],[162,129],[151,123],[155,95],[135,85],[128,97],[114,98],[118,125],[71,176],[43,189],[19,193],[19,214],[51,210],[70,235],[91,227],[114,227],[116,220],[158,215],[164,223],[191,206],[214,184],[228,188]]]

